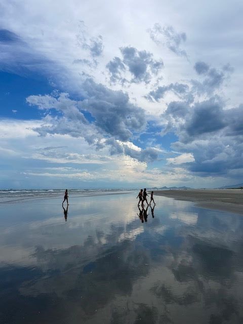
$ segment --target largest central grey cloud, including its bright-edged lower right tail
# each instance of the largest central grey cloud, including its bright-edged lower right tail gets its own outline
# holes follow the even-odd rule
[[[108,146],[112,155],[125,154],[139,161],[157,158],[157,149],[141,149],[128,141],[146,125],[144,111],[131,104],[128,95],[108,90],[95,84],[92,79],[86,81],[84,89],[89,99],[83,101],[71,100],[67,93],[58,94],[57,97],[29,96],[26,100],[30,105],[48,112],[55,109],[61,113],[59,117],[48,114],[34,131],[41,136],[68,134],[82,137],[97,149]],[[85,111],[91,114],[92,121],[85,117]]]

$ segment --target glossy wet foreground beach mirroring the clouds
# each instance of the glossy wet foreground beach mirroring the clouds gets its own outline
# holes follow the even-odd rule
[[[120,193],[0,204],[0,322],[243,322],[242,216]]]

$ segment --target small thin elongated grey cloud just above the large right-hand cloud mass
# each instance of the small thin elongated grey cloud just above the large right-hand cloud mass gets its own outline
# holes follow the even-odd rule
[[[168,91],[174,92],[174,94],[176,94],[178,97],[184,97],[185,94],[187,94],[188,90],[189,90],[188,85],[171,83],[168,86],[158,87],[156,90],[150,91],[148,95],[145,96],[145,98],[148,99],[149,101],[155,100],[158,102],[159,99],[163,98]]]

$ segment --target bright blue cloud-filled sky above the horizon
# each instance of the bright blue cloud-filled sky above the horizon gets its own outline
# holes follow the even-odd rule
[[[0,12],[0,188],[243,182],[240,0]]]

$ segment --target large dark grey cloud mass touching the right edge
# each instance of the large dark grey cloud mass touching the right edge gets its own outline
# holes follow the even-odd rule
[[[217,97],[189,105],[171,102],[163,114],[165,133],[175,132],[178,141],[172,148],[185,156],[193,155],[185,168],[202,177],[227,176],[241,168],[243,154],[243,107],[225,109]],[[175,164],[177,158],[167,159]],[[235,173],[235,174],[236,174]],[[232,177],[232,173],[230,175]]]

